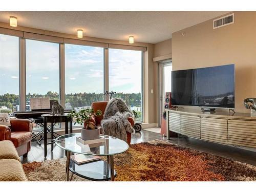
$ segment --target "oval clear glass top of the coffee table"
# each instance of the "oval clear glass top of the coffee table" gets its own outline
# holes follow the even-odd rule
[[[77,141],[77,137],[81,137],[81,133],[62,135],[55,140],[55,143],[63,150],[84,155],[116,155],[129,148],[125,141],[107,135],[100,135],[101,138],[105,138],[105,142],[94,144],[82,144]]]

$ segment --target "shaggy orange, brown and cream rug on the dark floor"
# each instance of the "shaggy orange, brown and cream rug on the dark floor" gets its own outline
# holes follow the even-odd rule
[[[116,155],[116,181],[255,181],[256,167],[161,140]],[[65,181],[66,159],[23,164],[29,181]],[[76,175],[73,181],[86,181]]]

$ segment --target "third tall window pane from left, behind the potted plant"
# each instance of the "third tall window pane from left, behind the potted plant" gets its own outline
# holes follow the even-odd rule
[[[65,45],[66,109],[91,108],[104,100],[103,48]]]

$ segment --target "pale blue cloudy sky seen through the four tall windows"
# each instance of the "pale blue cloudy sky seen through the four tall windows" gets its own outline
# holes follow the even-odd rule
[[[103,48],[65,45],[65,91],[103,93]],[[18,37],[0,34],[0,95],[18,94]],[[109,49],[110,90],[141,93],[141,52]],[[26,39],[26,91],[59,92],[59,45]]]

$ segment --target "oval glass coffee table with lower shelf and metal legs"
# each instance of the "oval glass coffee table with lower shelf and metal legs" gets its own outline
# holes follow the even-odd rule
[[[105,138],[105,142],[84,145],[76,140],[77,137],[81,137],[81,133],[62,135],[55,140],[57,146],[67,151],[66,181],[71,181],[74,174],[92,181],[114,181],[116,177],[114,155],[125,152],[129,145],[123,140],[107,135],[100,135],[101,138]],[[106,156],[107,160],[78,165],[70,158],[71,153]],[[72,173],[71,178],[69,172]]]

